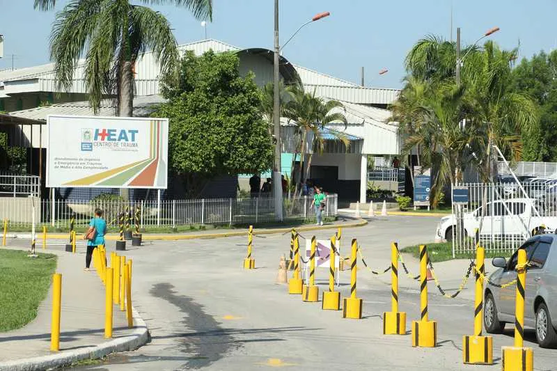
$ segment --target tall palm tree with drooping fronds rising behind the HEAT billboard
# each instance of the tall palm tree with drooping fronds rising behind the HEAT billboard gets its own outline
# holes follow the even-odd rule
[[[196,18],[212,18],[212,0],[141,0],[149,5],[183,6]],[[49,10],[55,0],[36,0],[35,7]],[[56,14],[50,40],[58,88],[70,90],[74,69],[86,54],[85,81],[95,113],[103,95],[116,95],[119,116],[132,116],[133,66],[147,49],[171,74],[178,47],[164,15],[127,0],[71,0]]]

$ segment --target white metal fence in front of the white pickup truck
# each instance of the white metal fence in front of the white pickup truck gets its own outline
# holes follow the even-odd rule
[[[557,181],[469,183],[466,205],[455,205],[442,220],[439,236],[453,240],[453,253],[473,253],[476,228],[487,251],[515,251],[526,239],[557,228]],[[485,207],[485,211],[483,208]]]

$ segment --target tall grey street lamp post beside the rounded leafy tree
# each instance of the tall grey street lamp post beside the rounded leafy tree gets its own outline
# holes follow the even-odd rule
[[[274,0],[274,63],[273,63],[273,124],[274,124],[274,164],[273,164],[273,197],[274,216],[276,221],[283,221],[283,185],[281,177],[281,98],[280,98],[280,56],[281,49],[307,24],[328,17],[329,12],[315,15],[311,20],[302,24],[299,29],[281,47],[278,43],[278,0]]]

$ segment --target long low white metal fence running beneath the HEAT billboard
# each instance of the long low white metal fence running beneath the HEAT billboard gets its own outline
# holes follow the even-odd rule
[[[33,198],[10,198],[12,202],[0,210],[0,219],[10,219],[10,226],[30,226],[31,216],[24,214],[33,210]],[[0,198],[0,201],[2,198]],[[313,198],[285,198],[284,219],[311,219],[315,217]],[[74,218],[75,226],[87,226],[95,208],[104,211],[104,219],[109,227],[118,226],[120,213],[131,215],[130,224],[134,225],[134,216],[139,214],[139,227],[178,227],[194,225],[235,225],[248,223],[272,223],[274,215],[274,198],[211,198],[196,200],[162,200],[158,201],[75,201],[75,200],[36,200],[36,225],[67,229]],[[336,216],[338,196],[328,195],[324,216]],[[22,215],[22,217],[13,217]],[[12,216],[9,218],[8,216]]]

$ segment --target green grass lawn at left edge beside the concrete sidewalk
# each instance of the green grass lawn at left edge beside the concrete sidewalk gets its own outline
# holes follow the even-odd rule
[[[56,255],[0,249],[0,331],[19,329],[37,316],[56,269]]]

